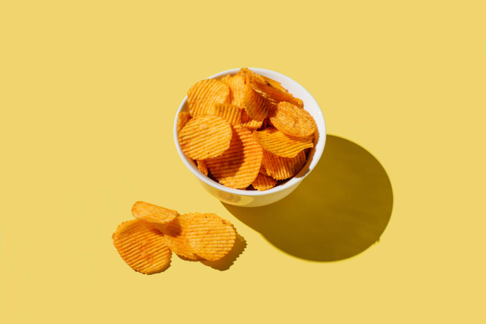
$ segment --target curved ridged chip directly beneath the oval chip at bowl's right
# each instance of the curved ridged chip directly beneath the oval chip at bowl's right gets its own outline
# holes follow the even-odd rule
[[[253,138],[267,151],[278,156],[294,157],[307,147],[313,147],[314,135],[295,137],[280,132],[274,127],[254,131]]]

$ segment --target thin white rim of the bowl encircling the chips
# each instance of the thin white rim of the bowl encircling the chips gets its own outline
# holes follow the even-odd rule
[[[222,191],[227,192],[227,193],[232,193],[232,194],[237,194],[237,195],[242,195],[242,196],[255,197],[255,196],[265,196],[265,195],[273,194],[273,193],[285,190],[287,188],[296,186],[314,169],[314,167],[317,165],[320,157],[322,156],[322,152],[323,152],[324,146],[326,144],[326,121],[324,119],[324,116],[322,115],[322,110],[320,109],[320,106],[315,101],[314,97],[307,91],[307,89],[305,89],[301,84],[296,82],[294,79],[288,77],[287,75],[284,75],[284,74],[281,74],[281,73],[278,73],[278,72],[275,72],[275,71],[272,71],[272,70],[268,70],[268,69],[256,68],[256,67],[250,67],[249,69],[251,69],[252,71],[254,71],[255,73],[258,73],[258,74],[263,74],[263,75],[273,74],[272,76],[277,75],[278,79],[276,79],[276,81],[278,81],[278,82],[280,82],[281,79],[287,79],[290,82],[294,82],[294,83],[298,84],[299,86],[302,87],[302,89],[304,89],[305,92],[307,92],[307,94],[313,100],[312,104],[315,104],[319,108],[317,116],[313,115],[313,117],[314,117],[314,119],[316,119],[316,117],[318,117],[320,119],[320,120],[316,120],[316,124],[318,124],[322,128],[322,134],[319,133],[319,137],[317,138],[317,142],[315,142],[314,147],[311,149],[312,156],[307,159],[306,164],[302,167],[302,169],[295,176],[293,176],[290,180],[288,180],[287,182],[285,182],[285,183],[283,183],[279,186],[275,186],[271,189],[264,190],[264,191],[242,190],[242,189],[234,189],[234,188],[226,187],[226,186],[212,180],[208,176],[205,176],[203,173],[201,173],[197,169],[197,167],[193,164],[193,162],[189,159],[189,157],[187,157],[182,152],[181,146],[180,146],[179,141],[178,141],[177,119],[178,119],[178,116],[179,116],[179,112],[181,112],[181,110],[184,108],[184,106],[187,102],[187,95],[184,97],[181,104],[179,105],[179,109],[177,109],[176,116],[175,116],[175,119],[174,119],[173,137],[174,137],[174,142],[176,144],[177,152],[179,153],[179,156],[182,159],[183,163],[192,172],[192,174],[195,175],[200,181],[203,181],[204,183],[210,185],[211,187],[218,189],[218,190],[222,190]],[[207,78],[208,79],[213,79],[213,78],[220,79],[220,78],[226,76],[227,74],[236,74],[238,71],[239,71],[239,68],[229,69],[229,70],[225,70],[225,71],[221,71],[221,72],[218,72],[216,74],[213,74],[213,75],[211,75]],[[318,144],[319,144],[319,150],[317,150]]]

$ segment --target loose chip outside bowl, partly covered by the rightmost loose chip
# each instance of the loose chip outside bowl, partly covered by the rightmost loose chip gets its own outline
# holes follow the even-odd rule
[[[164,232],[166,238],[166,244],[175,254],[191,259],[200,260],[201,258],[192,252],[192,248],[189,245],[189,241],[186,237],[186,230],[189,222],[195,215],[201,215],[199,213],[189,213],[177,217],[175,220],[167,225]]]

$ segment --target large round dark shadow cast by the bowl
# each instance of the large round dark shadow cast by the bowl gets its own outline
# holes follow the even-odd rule
[[[370,152],[328,135],[319,163],[286,198],[256,208],[222,204],[290,255],[337,261],[380,239],[391,217],[393,191],[385,169]]]

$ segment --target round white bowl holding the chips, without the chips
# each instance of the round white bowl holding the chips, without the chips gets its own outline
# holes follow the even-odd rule
[[[239,69],[232,69],[219,72],[213,76],[210,76],[209,78],[221,79],[228,74],[236,74],[238,70]],[[278,72],[260,68],[251,68],[251,70],[253,70],[255,73],[270,77],[278,81],[279,83],[281,83],[282,87],[289,90],[291,94],[293,94],[297,98],[302,99],[302,101],[304,102],[304,109],[307,110],[312,115],[312,117],[314,117],[315,123],[317,124],[318,135],[314,138],[314,147],[308,153],[307,163],[297,175],[295,175],[284,184],[273,187],[269,190],[257,191],[228,188],[211,180],[210,178],[202,174],[194,166],[190,158],[184,155],[177,139],[177,116],[181,111],[189,111],[187,106],[187,96],[184,98],[184,100],[182,100],[181,105],[177,110],[176,118],[174,120],[174,141],[176,143],[177,151],[179,152],[179,155],[186,167],[199,180],[199,182],[201,183],[201,185],[203,185],[206,191],[212,194],[215,198],[224,201],[224,203],[241,207],[258,207],[269,205],[275,203],[275,201],[277,200],[284,198],[292,191],[294,191],[294,189],[297,188],[302,180],[304,180],[304,178],[308,176],[312,169],[314,169],[314,167],[317,165],[317,162],[322,155],[324,144],[326,143],[326,123],[324,121],[324,117],[322,116],[319,105],[312,97],[312,95],[304,89],[304,87],[299,85],[290,77],[280,74]]]

